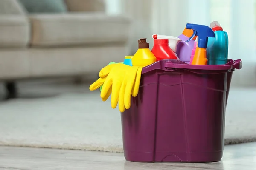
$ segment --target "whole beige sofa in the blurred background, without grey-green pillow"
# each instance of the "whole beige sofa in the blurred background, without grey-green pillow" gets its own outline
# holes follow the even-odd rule
[[[0,80],[97,74],[128,53],[130,20],[108,16],[104,1],[65,0],[69,12],[29,14],[0,0]]]

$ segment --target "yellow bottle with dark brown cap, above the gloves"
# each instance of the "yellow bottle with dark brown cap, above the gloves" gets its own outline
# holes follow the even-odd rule
[[[149,49],[149,43],[146,41],[146,38],[141,38],[138,40],[139,49],[132,57],[132,65],[137,66],[148,66],[156,62],[156,57]]]

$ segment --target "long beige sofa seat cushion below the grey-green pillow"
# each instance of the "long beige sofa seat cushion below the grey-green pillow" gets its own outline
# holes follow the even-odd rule
[[[32,46],[127,42],[129,19],[105,14],[37,14],[29,16]]]

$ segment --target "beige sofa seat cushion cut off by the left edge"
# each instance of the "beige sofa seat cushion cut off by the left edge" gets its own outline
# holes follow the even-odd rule
[[[22,15],[0,15],[0,48],[26,47],[30,38],[30,24]]]

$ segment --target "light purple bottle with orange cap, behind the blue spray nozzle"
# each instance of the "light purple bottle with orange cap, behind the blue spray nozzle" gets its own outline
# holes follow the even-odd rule
[[[191,37],[193,34],[193,30],[189,30],[185,28],[180,36],[178,38],[181,40],[181,42],[177,45],[177,55],[180,59],[180,61],[189,63],[190,56],[192,49],[194,47],[194,42],[196,37],[194,37],[191,41],[187,42],[189,40],[189,37]]]

